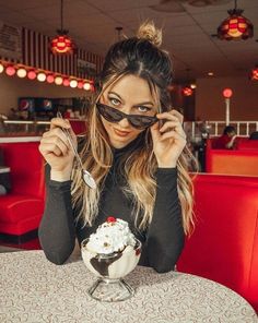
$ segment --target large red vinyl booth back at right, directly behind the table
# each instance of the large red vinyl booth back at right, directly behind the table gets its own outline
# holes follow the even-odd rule
[[[178,271],[230,287],[258,311],[258,178],[198,175],[195,214]]]

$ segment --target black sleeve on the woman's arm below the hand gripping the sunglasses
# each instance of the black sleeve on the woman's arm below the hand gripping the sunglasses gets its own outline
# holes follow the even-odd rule
[[[145,251],[149,265],[163,273],[174,268],[185,241],[177,192],[177,169],[157,169],[156,183],[156,200],[146,234]]]

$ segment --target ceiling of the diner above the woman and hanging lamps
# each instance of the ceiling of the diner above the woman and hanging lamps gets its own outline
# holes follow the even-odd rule
[[[237,8],[254,24],[254,37],[225,41],[212,34],[234,8],[230,0],[203,0],[216,5],[194,7],[192,0],[63,0],[63,27],[77,45],[105,56],[118,39],[117,26],[134,35],[140,22],[151,19],[163,27],[163,48],[174,60],[175,79],[247,76],[258,64],[258,0],[238,0]],[[152,7],[164,3],[165,11]],[[225,3],[227,2],[227,3]],[[54,36],[60,27],[60,0],[0,0],[0,21]],[[176,10],[181,12],[175,12]],[[172,11],[174,12],[172,12]],[[186,70],[190,69],[187,73]]]

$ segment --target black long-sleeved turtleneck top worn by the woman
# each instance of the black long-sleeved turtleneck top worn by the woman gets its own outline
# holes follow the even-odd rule
[[[134,227],[132,201],[125,195],[125,178],[117,170],[122,149],[114,151],[114,165],[105,180],[99,199],[99,212],[92,227],[74,222],[77,210],[71,204],[71,181],[50,180],[50,167],[46,166],[46,205],[38,236],[46,258],[55,264],[63,264],[79,243],[87,238],[108,216],[129,223],[136,237],[142,242],[139,264],[163,273],[174,270],[184,247],[181,207],[177,193],[177,169],[157,168],[156,199],[152,223],[145,231]]]

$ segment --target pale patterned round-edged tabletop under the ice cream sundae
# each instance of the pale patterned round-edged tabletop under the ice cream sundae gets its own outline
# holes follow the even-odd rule
[[[94,277],[79,256],[57,266],[42,251],[1,253],[0,268],[1,323],[258,322],[241,296],[192,275],[138,266],[126,277],[136,295],[102,303],[86,294]]]

